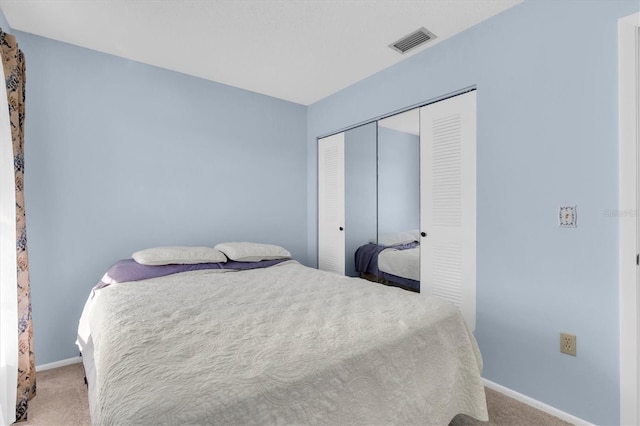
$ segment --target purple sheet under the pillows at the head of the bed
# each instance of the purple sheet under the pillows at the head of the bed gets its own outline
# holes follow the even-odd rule
[[[193,265],[142,265],[133,259],[119,260],[109,268],[94,290],[116,282],[139,281],[148,278],[163,277],[179,272],[199,271],[202,269],[232,269],[242,271],[246,269],[266,268],[290,259],[262,260],[260,262],[236,262],[229,260],[225,263],[196,263]]]

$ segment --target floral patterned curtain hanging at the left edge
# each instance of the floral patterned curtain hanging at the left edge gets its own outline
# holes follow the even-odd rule
[[[18,274],[18,389],[16,420],[27,420],[29,400],[36,394],[31,291],[27,260],[27,227],[24,210],[24,100],[25,61],[14,36],[0,30],[2,65],[7,86],[13,164],[16,182],[16,255]]]

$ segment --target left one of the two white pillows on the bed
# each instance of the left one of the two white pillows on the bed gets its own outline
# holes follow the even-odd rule
[[[227,261],[222,252],[211,247],[154,247],[137,251],[131,257],[142,265],[193,265]]]

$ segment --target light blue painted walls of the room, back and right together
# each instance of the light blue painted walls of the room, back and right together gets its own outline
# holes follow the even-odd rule
[[[89,288],[139,248],[246,239],[315,262],[316,138],[475,85],[484,376],[618,423],[618,224],[604,211],[618,205],[617,19],[638,10],[526,1],[308,114],[14,32],[27,58],[37,364],[77,354]],[[557,227],[564,203],[578,228]],[[561,331],[577,334],[577,357],[558,352]]]

